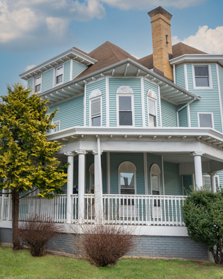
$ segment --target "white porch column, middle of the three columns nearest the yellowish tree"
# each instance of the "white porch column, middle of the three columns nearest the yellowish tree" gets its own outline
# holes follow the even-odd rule
[[[78,222],[84,223],[84,188],[86,150],[76,150],[78,154]]]

